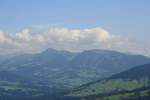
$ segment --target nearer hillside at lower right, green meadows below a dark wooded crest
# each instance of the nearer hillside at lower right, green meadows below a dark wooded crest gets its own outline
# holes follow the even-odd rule
[[[150,63],[131,68],[66,94],[70,100],[149,100]]]

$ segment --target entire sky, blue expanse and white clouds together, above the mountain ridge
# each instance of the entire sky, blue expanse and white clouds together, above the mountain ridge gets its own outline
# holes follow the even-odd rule
[[[149,54],[149,5],[149,0],[0,0],[0,51],[104,48]]]

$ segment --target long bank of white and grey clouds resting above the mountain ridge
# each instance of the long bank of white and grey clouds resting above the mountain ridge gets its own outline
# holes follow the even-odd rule
[[[18,33],[0,32],[1,54],[35,53],[46,48],[69,51],[110,49],[146,54],[150,50],[150,45],[145,46],[111,34],[101,27],[87,29],[48,27],[44,30],[28,28]]]

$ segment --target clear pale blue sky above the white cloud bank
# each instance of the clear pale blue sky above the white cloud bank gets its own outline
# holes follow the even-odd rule
[[[0,30],[32,25],[101,26],[135,39],[150,37],[149,0],[0,0]]]

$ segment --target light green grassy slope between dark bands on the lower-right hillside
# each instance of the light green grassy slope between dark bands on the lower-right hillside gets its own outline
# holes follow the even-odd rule
[[[76,91],[68,94],[68,96],[73,97],[84,97],[96,94],[104,94],[119,91],[131,91],[137,88],[142,88],[148,86],[149,80],[147,78],[142,78],[140,80],[123,80],[123,79],[111,79],[103,80],[91,84],[89,86],[81,87]]]

